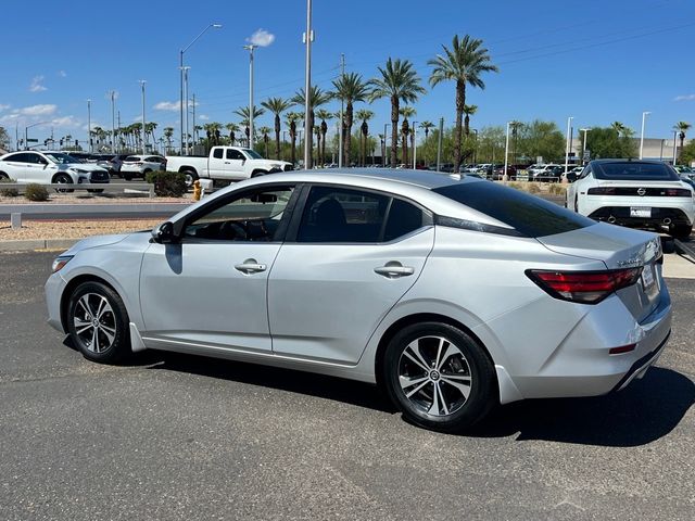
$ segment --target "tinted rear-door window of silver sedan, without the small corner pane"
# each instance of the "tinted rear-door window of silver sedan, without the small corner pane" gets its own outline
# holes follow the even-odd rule
[[[391,198],[343,188],[312,188],[299,242],[379,242]]]

